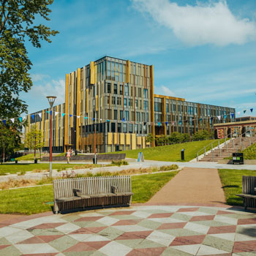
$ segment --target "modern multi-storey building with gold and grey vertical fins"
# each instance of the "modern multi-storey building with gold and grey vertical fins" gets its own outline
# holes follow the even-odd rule
[[[236,118],[234,108],[154,94],[153,65],[109,56],[67,74],[65,90],[65,103],[53,108],[53,151],[145,148],[148,133],[192,135]],[[32,113],[26,127],[26,132],[32,125],[42,130],[45,150],[49,116],[49,109]]]

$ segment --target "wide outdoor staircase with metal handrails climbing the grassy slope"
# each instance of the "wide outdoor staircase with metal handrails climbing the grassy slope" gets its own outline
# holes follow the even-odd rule
[[[256,137],[238,137],[227,140],[221,147],[217,147],[212,152],[209,151],[208,154],[205,154],[203,158],[199,159],[199,162],[218,162],[219,159],[232,157],[233,153],[243,151],[253,143],[256,143]]]

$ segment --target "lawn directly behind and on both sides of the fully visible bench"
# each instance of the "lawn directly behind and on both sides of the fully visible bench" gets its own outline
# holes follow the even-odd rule
[[[167,181],[170,181],[178,171],[132,176],[133,203],[148,201]],[[53,187],[31,187],[0,191],[0,214],[37,214],[51,211],[53,202]]]

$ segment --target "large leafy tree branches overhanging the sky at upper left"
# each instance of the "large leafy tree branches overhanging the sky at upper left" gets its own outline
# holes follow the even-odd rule
[[[34,25],[38,16],[48,18],[53,0],[0,0],[0,119],[14,118],[26,111],[19,99],[21,91],[29,91],[31,61],[25,43],[40,48],[41,41],[50,41],[58,31],[45,25]]]

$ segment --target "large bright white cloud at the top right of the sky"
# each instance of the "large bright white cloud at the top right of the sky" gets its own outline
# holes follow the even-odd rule
[[[148,12],[188,45],[242,45],[256,39],[255,22],[233,15],[225,0],[195,6],[178,6],[169,0],[132,2],[136,10]]]

